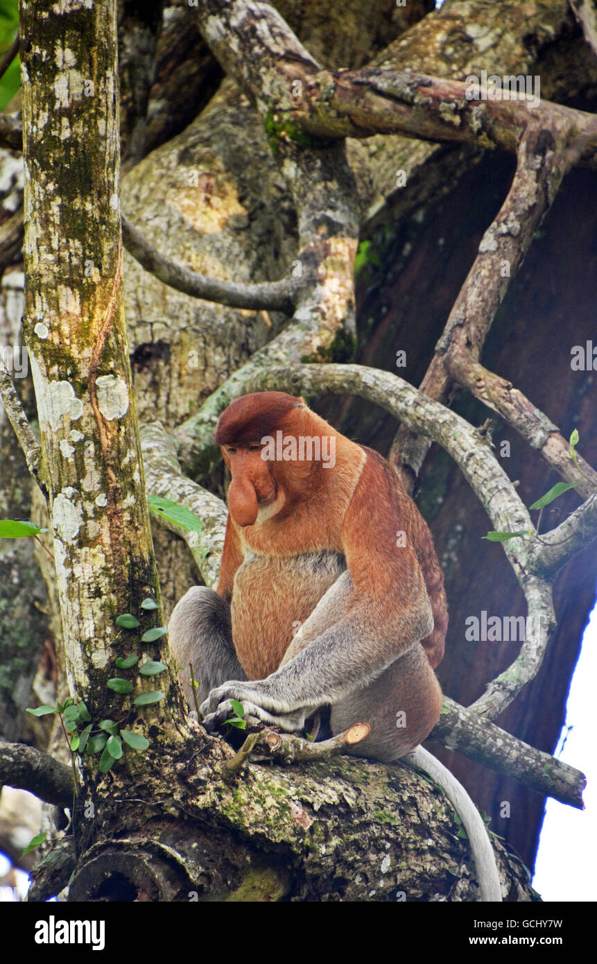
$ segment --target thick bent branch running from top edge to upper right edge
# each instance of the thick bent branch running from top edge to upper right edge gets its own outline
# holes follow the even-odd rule
[[[286,138],[300,131],[334,139],[404,134],[515,152],[525,130],[536,125],[562,147],[571,134],[588,132],[584,158],[597,147],[592,115],[545,101],[535,105],[525,94],[467,99],[474,93],[469,84],[410,71],[319,70],[280,14],[257,0],[199,0],[198,13],[222,67]]]

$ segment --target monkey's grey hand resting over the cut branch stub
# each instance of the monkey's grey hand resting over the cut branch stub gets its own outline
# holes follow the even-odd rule
[[[278,700],[272,699],[262,681],[235,681],[216,686],[202,703],[200,710],[204,718],[203,726],[208,732],[223,726],[227,719],[235,716],[231,700],[242,703],[245,716],[257,716],[262,723],[274,724],[288,733],[303,730],[311,708],[285,711]]]

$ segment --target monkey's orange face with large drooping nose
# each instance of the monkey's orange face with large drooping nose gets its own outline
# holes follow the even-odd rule
[[[276,515],[285,504],[284,490],[276,484],[271,463],[261,458],[262,449],[260,442],[222,446],[232,475],[228,507],[237,525],[253,525],[258,516]]]

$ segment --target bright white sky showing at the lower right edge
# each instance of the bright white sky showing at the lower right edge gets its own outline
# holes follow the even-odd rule
[[[574,671],[566,726],[573,727],[555,756],[586,775],[585,810],[549,799],[541,830],[532,886],[544,900],[597,900],[597,754],[595,753],[595,683],[597,681],[597,605],[584,630],[583,648]],[[565,727],[562,736],[565,735]]]

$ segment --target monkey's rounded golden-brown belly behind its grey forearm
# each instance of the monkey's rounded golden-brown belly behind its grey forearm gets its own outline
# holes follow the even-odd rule
[[[296,631],[345,568],[344,557],[331,551],[245,557],[234,576],[231,617],[249,680],[278,669]]]

